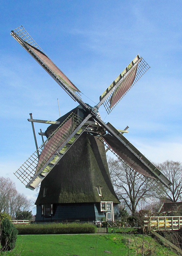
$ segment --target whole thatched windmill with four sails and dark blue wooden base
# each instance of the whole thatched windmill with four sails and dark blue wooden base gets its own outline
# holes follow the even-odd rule
[[[110,149],[139,173],[171,182],[110,123],[105,124],[98,112],[103,104],[107,113],[114,109],[127,91],[149,69],[137,55],[100,96],[95,106],[80,98],[81,92],[52,62],[22,27],[11,31],[17,42],[79,103],[79,106],[56,121],[30,119],[50,126],[39,134],[47,139],[15,172],[29,189],[41,188],[36,201],[36,221],[106,220],[113,221],[119,200],[113,189],[105,151]],[[35,133],[34,133],[34,138]],[[35,140],[36,141],[36,140]]]

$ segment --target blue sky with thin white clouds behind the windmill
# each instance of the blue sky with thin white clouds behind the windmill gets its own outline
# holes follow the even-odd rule
[[[20,25],[91,105],[140,54],[151,68],[110,115],[102,106],[99,112],[116,128],[128,125],[127,139],[153,162],[182,162],[181,8],[179,0],[2,2],[0,176],[35,198],[37,192],[13,175],[35,151],[29,113],[35,119],[57,119],[57,98],[61,115],[77,106],[9,35]],[[47,126],[35,128],[38,133]]]

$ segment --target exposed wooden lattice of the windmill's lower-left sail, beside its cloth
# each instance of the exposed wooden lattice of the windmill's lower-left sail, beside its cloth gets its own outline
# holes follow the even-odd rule
[[[34,177],[36,174],[36,169],[37,165],[39,162],[39,157],[45,144],[47,143],[48,140],[50,140],[55,133],[70,119],[73,118],[75,125],[71,127],[70,134],[71,132],[77,128],[80,123],[82,122],[82,119],[74,114],[71,113],[65,120],[64,122],[48,137],[47,140],[44,141],[44,143],[25,161],[23,165],[19,167],[19,169],[14,173],[14,175],[27,187],[27,185],[30,183],[31,179]],[[39,170],[39,172],[41,169]]]

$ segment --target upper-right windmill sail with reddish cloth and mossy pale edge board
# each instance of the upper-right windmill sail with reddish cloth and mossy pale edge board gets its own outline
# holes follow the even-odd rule
[[[149,69],[149,65],[137,55],[100,96],[98,107],[103,104],[109,114],[131,87]]]

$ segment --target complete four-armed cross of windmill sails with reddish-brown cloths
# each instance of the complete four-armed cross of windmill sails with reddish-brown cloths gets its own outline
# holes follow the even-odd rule
[[[11,35],[17,42],[74,98],[84,109],[86,115],[83,121],[74,122],[74,114],[65,120],[62,125],[42,144],[42,146],[18,169],[15,175],[29,187],[34,189],[41,180],[52,170],[80,134],[87,128],[89,118],[95,119],[108,134],[102,133],[102,138],[128,165],[145,176],[159,179],[165,186],[170,186],[170,181],[147,160],[124,136],[109,123],[106,125],[98,114],[98,108],[103,104],[108,114],[124,97],[127,91],[150,68],[149,65],[137,55],[131,63],[121,72],[113,83],[100,96],[100,102],[91,107],[79,97],[79,89],[67,76],[52,62],[42,51],[27,31],[20,26],[12,30]],[[89,114],[90,113],[90,114]],[[74,120],[73,120],[74,119]],[[78,119],[78,116],[77,116]],[[99,130],[95,131],[100,134]],[[44,147],[44,148],[43,148]],[[43,149],[43,150],[42,150]],[[37,155],[39,157],[37,157]]]

